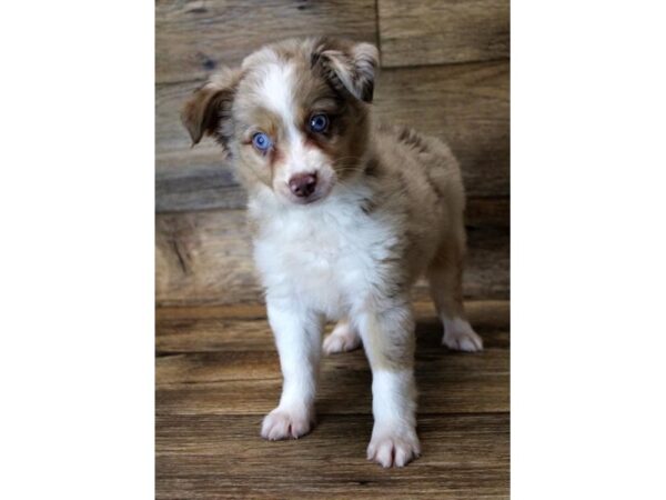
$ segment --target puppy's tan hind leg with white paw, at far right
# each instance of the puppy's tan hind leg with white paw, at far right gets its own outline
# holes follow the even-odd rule
[[[456,351],[481,351],[483,340],[465,318],[463,304],[464,228],[452,231],[427,269],[427,280],[437,314],[444,323],[442,343]]]

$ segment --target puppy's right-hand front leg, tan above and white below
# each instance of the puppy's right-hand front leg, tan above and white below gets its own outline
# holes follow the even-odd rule
[[[403,467],[421,453],[416,436],[414,320],[407,302],[359,316],[372,368],[374,428],[367,459]]]

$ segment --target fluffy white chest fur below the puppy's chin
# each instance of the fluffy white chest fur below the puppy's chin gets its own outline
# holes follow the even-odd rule
[[[251,202],[250,214],[260,227],[254,259],[273,298],[337,319],[387,278],[382,261],[395,247],[394,226],[365,214],[355,198],[331,196],[312,206]]]

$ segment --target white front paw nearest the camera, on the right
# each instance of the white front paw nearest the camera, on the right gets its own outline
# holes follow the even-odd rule
[[[372,431],[367,460],[382,467],[404,467],[421,454],[421,443],[414,428]]]

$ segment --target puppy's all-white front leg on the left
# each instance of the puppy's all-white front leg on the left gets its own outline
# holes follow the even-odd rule
[[[270,440],[297,439],[314,423],[323,322],[292,301],[266,301],[284,381],[280,404],[264,418],[261,436]]]

